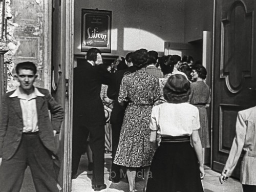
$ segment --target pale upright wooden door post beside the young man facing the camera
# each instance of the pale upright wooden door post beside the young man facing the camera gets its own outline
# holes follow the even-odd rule
[[[72,159],[72,119],[73,119],[73,65],[74,65],[74,1],[67,0],[66,19],[66,93],[65,127],[64,127],[64,155],[63,155],[63,191],[71,191],[71,159]]]

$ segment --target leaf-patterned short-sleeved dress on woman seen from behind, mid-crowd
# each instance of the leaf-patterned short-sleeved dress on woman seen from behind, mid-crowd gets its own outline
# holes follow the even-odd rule
[[[118,101],[128,102],[114,163],[126,167],[151,165],[150,117],[159,93],[157,77],[144,69],[122,79]]]

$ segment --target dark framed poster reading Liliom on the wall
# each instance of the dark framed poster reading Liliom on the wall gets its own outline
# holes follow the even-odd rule
[[[81,52],[95,47],[111,53],[112,11],[82,9]]]

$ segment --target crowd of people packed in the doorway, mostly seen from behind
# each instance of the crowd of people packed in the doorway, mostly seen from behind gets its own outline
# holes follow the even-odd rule
[[[206,69],[188,55],[159,58],[156,51],[139,49],[108,65],[102,63],[98,49],[90,49],[87,62],[74,70],[74,81],[83,85],[74,86],[72,177],[77,176],[82,154],[79,146],[89,136],[95,191],[106,188],[105,139],[112,145],[110,181],[119,182],[126,172],[134,192],[142,169],[143,191],[203,191],[202,147],[210,143],[206,75]],[[110,112],[106,103],[111,103],[110,122],[103,122]],[[106,126],[111,126],[109,138],[104,137]]]

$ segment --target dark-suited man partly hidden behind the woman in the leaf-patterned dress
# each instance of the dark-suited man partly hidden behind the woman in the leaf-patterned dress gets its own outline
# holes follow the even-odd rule
[[[114,164],[113,162],[115,159],[115,155],[116,155],[116,151],[119,143],[120,131],[121,131],[123,117],[125,113],[125,107],[121,106],[117,99],[118,99],[123,76],[125,74],[133,73],[137,70],[137,68],[133,66],[131,58],[132,58],[132,53],[128,53],[125,57],[125,60],[129,68],[119,70],[112,75],[111,83],[107,91],[108,97],[114,100],[114,105],[113,105],[113,109],[110,116],[110,122],[112,127],[112,166],[111,166],[111,172],[110,172],[110,178],[109,178],[109,180],[114,183],[119,182],[120,177],[122,175],[120,173],[120,166]],[[124,62],[124,61],[122,60],[120,62]],[[120,65],[120,63],[118,65]]]

